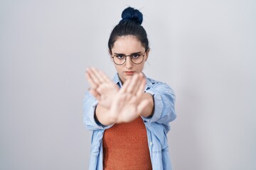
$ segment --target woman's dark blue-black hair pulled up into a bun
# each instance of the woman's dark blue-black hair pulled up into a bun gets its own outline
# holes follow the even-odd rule
[[[149,40],[147,39],[146,30],[141,26],[143,21],[142,13],[132,7],[125,8],[122,11],[122,20],[114,27],[110,34],[108,47],[112,53],[112,47],[118,37],[125,35],[134,35],[140,42],[142,42],[145,50],[149,50]]]

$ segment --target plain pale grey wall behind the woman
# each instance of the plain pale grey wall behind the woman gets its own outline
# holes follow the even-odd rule
[[[85,69],[113,77],[107,40],[144,14],[144,73],[176,93],[175,170],[256,169],[256,1],[0,1],[0,169],[87,169]]]

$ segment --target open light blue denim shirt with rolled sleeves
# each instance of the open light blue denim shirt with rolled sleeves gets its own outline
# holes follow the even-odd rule
[[[122,83],[118,74],[113,80],[121,88]],[[146,127],[152,168],[154,170],[171,169],[166,134],[170,130],[169,123],[176,118],[174,91],[165,83],[146,78],[145,92],[154,97],[154,114],[148,118],[142,117]],[[95,121],[96,106],[96,98],[87,91],[83,100],[83,122],[88,130],[92,130],[90,170],[103,169],[102,137],[104,131],[112,127],[112,125],[105,126]]]

